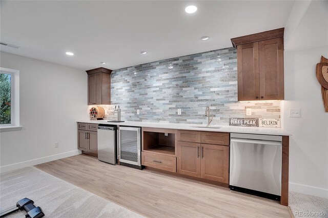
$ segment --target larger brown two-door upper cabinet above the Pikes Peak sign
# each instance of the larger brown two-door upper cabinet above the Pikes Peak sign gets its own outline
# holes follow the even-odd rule
[[[284,28],[232,38],[237,48],[238,101],[283,100]]]

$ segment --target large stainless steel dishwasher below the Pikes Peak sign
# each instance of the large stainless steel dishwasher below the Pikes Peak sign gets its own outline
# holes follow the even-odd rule
[[[230,189],[280,200],[282,137],[231,133]]]

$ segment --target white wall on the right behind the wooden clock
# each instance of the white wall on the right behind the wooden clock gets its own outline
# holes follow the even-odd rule
[[[296,2],[285,26],[283,127],[290,137],[290,191],[328,198],[328,113],[316,64],[328,58],[328,2]],[[289,109],[301,109],[300,118]]]

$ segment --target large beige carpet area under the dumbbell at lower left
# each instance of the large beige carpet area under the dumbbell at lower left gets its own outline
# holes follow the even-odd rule
[[[45,217],[143,217],[34,167],[2,174],[0,186],[1,211],[28,197],[42,208]],[[18,211],[6,218],[21,218],[25,214]]]

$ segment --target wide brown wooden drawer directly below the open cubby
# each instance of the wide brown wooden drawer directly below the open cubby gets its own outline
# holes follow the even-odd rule
[[[176,157],[141,152],[141,165],[176,172]]]

